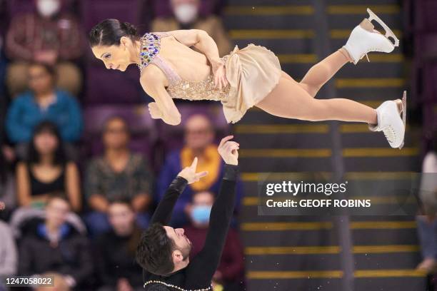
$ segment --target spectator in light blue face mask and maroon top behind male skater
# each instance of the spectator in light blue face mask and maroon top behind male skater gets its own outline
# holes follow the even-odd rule
[[[205,177],[204,177],[205,178]],[[214,194],[208,191],[193,195],[190,208],[191,223],[184,227],[185,235],[193,243],[190,259],[204,247],[209,227],[209,215],[214,204]],[[243,247],[234,229],[229,229],[226,243],[221,255],[221,261],[213,277],[213,283],[222,285],[223,291],[244,290]]]

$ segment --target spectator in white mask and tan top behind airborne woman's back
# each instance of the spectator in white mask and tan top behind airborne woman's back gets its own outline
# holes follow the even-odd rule
[[[177,29],[202,29],[216,41],[218,54],[224,56],[231,51],[231,42],[221,19],[209,15],[199,15],[200,0],[171,0],[173,17],[156,18],[152,21],[151,31],[173,31]]]

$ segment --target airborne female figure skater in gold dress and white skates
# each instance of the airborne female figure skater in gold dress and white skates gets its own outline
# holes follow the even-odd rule
[[[228,123],[236,123],[248,108],[257,106],[285,118],[366,122],[371,131],[383,131],[391,147],[402,148],[405,93],[402,100],[385,101],[376,110],[345,98],[314,98],[348,61],[356,64],[368,52],[390,53],[398,46],[391,29],[367,11],[370,16],[353,29],[346,45],[313,66],[300,83],[281,71],[278,58],[267,48],[249,44],[240,50],[236,46],[219,58],[214,40],[196,29],[148,33],[139,38],[131,24],[106,19],[91,29],[89,43],[106,68],[125,71],[131,63],[139,66],[141,86],[155,101],[149,103],[151,117],[168,124],[181,122],[172,98],[209,99],[221,101]],[[373,29],[372,20],[383,26],[386,35]]]

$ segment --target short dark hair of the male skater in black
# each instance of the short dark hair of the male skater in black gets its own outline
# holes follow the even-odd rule
[[[149,272],[165,276],[174,270],[173,250],[174,242],[167,236],[164,226],[154,223],[141,236],[136,248],[136,261]]]

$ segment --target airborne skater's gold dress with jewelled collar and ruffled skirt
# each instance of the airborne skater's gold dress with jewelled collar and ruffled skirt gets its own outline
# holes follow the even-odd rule
[[[228,80],[225,88],[215,88],[212,74],[203,81],[184,80],[159,56],[160,39],[169,35],[165,32],[144,34],[141,38],[140,71],[149,63],[161,68],[169,80],[166,91],[171,98],[221,101],[228,123],[239,121],[249,108],[273,90],[281,78],[278,57],[263,46],[249,44],[241,49],[235,46],[231,53],[223,56]]]

